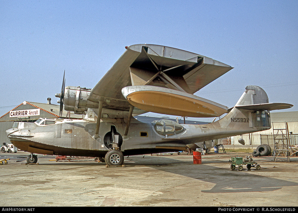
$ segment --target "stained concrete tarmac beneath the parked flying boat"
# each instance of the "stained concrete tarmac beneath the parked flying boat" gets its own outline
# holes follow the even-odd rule
[[[298,157],[274,162],[254,157],[260,170],[232,171],[231,157],[208,154],[202,164],[193,155],[125,157],[125,167],[106,168],[93,159],[55,162],[29,153],[1,153],[0,206],[297,206]]]

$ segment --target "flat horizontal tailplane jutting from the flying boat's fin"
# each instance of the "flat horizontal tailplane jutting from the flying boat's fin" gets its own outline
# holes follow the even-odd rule
[[[287,103],[262,103],[262,104],[251,104],[251,105],[239,105],[235,106],[239,109],[246,109],[246,110],[258,110],[258,111],[271,111],[271,110],[278,110],[278,109],[288,109],[291,108],[292,104]]]

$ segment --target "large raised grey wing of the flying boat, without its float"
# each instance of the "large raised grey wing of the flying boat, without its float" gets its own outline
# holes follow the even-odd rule
[[[128,111],[130,103],[121,93],[123,87],[149,85],[193,94],[233,68],[206,56],[161,45],[125,48],[91,90],[88,100],[103,101],[104,108]]]

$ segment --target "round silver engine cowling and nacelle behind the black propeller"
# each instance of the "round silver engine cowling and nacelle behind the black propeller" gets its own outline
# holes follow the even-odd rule
[[[73,111],[76,114],[83,114],[88,108],[98,108],[98,103],[87,100],[91,89],[81,88],[80,86],[67,86],[64,92],[64,109]]]

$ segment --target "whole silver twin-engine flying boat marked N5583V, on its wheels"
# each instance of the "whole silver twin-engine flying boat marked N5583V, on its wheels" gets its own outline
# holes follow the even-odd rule
[[[67,86],[63,76],[60,113],[64,109],[86,114],[82,120],[38,119],[15,122],[7,130],[18,149],[36,154],[105,158],[107,165],[122,165],[124,156],[185,150],[186,146],[215,146],[215,139],[271,128],[271,110],[293,105],[269,103],[266,92],[247,86],[228,109],[194,93],[233,67],[188,51],[161,45],[139,44],[126,51],[93,89]],[[218,117],[202,125],[160,119],[142,123],[134,115],[146,112],[185,117]]]

